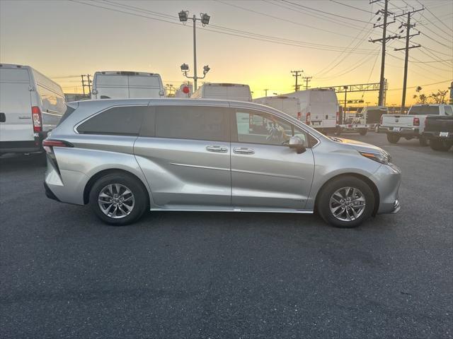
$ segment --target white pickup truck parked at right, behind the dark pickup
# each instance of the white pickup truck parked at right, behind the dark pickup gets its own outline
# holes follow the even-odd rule
[[[413,105],[408,114],[384,114],[380,130],[387,134],[389,143],[398,143],[400,138],[418,138],[420,145],[428,145],[423,136],[425,119],[428,115],[453,115],[452,105],[423,104]]]

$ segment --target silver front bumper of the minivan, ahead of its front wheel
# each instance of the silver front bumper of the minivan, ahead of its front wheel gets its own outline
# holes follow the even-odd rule
[[[401,184],[401,169],[397,166],[382,165],[370,178],[379,191],[379,208],[377,214],[398,213],[401,209],[399,186]]]

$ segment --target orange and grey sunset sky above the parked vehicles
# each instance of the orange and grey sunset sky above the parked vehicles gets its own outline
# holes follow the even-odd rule
[[[178,12],[208,13],[210,25],[197,23],[197,64],[209,64],[205,81],[247,83],[254,97],[292,91],[291,70],[312,76],[311,87],[379,82],[382,37],[373,28],[381,3],[368,0],[320,1],[8,1],[0,0],[0,62],[26,64],[53,78],[64,92],[81,92],[80,75],[95,71],[160,73],[164,84],[187,80],[180,64],[193,69],[192,21]],[[416,24],[408,69],[408,95],[417,85],[425,94],[447,89],[453,80],[453,1],[391,0],[396,14],[425,5]],[[409,5],[409,6],[408,6]],[[102,8],[101,8],[102,7]],[[109,9],[110,8],[110,9]],[[389,25],[400,32],[401,20]],[[393,20],[393,18],[389,18]],[[379,23],[382,22],[382,19]],[[405,35],[402,32],[401,35]],[[403,39],[388,43],[387,105],[400,105]],[[77,77],[78,76],[78,77]],[[429,85],[432,84],[432,85]],[[353,93],[374,105],[377,92]]]

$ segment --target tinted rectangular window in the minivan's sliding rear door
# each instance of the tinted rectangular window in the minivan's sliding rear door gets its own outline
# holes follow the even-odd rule
[[[229,122],[222,107],[156,107],[156,137],[229,141]]]

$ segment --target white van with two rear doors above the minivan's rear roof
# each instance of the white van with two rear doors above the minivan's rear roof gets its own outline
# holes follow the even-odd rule
[[[164,83],[156,73],[98,71],[94,73],[91,99],[164,97]]]

